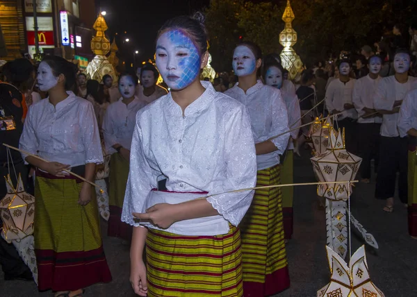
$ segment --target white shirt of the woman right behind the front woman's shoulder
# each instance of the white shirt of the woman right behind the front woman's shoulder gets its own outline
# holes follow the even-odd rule
[[[263,85],[261,80],[258,80],[256,85],[250,87],[245,93],[236,83],[224,94],[240,101],[247,107],[256,144],[289,130],[286,105],[282,99],[281,91],[275,87]],[[257,155],[258,170],[279,164],[279,155],[284,153],[289,137],[290,134],[287,133],[271,140],[277,146],[277,151]]]

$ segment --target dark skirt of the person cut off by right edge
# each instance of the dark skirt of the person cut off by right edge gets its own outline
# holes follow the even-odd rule
[[[417,237],[417,150],[409,146],[408,153],[408,221],[409,235]]]

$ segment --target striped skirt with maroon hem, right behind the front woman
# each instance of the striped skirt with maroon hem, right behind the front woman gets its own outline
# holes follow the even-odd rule
[[[258,171],[256,187],[279,183],[279,165]],[[290,287],[280,188],[256,190],[240,232],[244,296],[270,296]]]

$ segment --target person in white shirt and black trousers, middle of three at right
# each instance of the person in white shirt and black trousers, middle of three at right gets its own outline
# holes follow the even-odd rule
[[[353,88],[352,102],[356,108],[358,119],[358,155],[362,158],[361,179],[363,183],[370,183],[370,161],[375,162],[375,173],[378,168],[379,130],[381,130],[382,114],[375,113],[373,96],[381,79],[379,71],[382,58],[371,56],[368,59],[369,74],[356,81]]]

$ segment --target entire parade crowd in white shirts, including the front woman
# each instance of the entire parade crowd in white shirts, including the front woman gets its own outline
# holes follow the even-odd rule
[[[199,13],[168,20],[156,65],[117,81],[88,80],[58,56],[7,62],[0,137],[21,152],[0,146],[0,176],[16,183],[20,174],[35,196],[38,289],[83,296],[111,282],[105,220],[108,236],[131,246],[139,296],[284,291],[293,189],[235,190],[293,183],[293,158],[311,136],[300,126],[328,114],[337,114],[347,151],[363,159],[361,182],[376,175],[380,211],[408,207],[416,239],[417,28],[409,29],[411,46],[396,25],[393,40],[342,51],[293,80],[279,54],[263,55],[250,41],[234,49],[231,74],[200,80],[209,55]],[[0,189],[2,198],[5,183]],[[0,243],[5,279],[31,280],[13,244]]]

